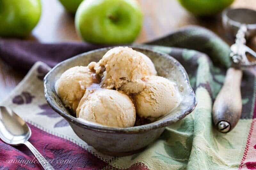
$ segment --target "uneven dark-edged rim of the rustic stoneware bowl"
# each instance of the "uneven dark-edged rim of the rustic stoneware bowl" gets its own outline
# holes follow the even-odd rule
[[[60,63],[58,63],[55,67],[52,68],[52,70],[50,70],[46,76],[44,77],[44,97],[48,103],[48,105],[50,107],[52,107],[52,109],[57,112],[59,115],[61,115],[63,118],[65,118],[69,123],[72,122],[74,124],[76,124],[77,126],[81,127],[81,128],[86,128],[86,129],[90,129],[90,130],[94,130],[94,131],[100,131],[100,132],[105,132],[105,133],[124,133],[124,134],[134,134],[134,133],[141,133],[141,132],[146,132],[149,130],[154,130],[154,129],[158,129],[158,128],[163,128],[166,127],[174,122],[177,122],[178,120],[184,118],[185,116],[187,116],[188,114],[190,114],[196,107],[197,105],[197,101],[196,101],[196,95],[192,89],[192,87],[189,84],[189,78],[188,78],[188,74],[186,72],[186,70],[184,69],[184,67],[172,56],[166,54],[166,53],[162,53],[162,52],[158,52],[158,51],[154,51],[151,49],[148,49],[146,47],[141,47],[141,46],[125,46],[125,47],[129,47],[132,49],[139,49],[139,50],[146,50],[149,51],[152,54],[157,54],[157,55],[163,55],[164,57],[172,60],[173,63],[176,64],[176,66],[179,68],[179,70],[182,72],[182,76],[185,78],[185,82],[189,87],[189,94],[192,95],[192,99],[193,101],[191,102],[191,105],[189,105],[189,107],[183,111],[182,114],[178,115],[176,118],[178,119],[163,119],[162,121],[158,122],[152,122],[152,123],[148,123],[145,125],[140,125],[140,126],[133,126],[133,127],[128,127],[128,128],[113,128],[113,127],[107,127],[107,126],[97,126],[95,124],[89,124],[86,123],[84,121],[80,121],[79,119],[77,119],[76,117],[69,115],[68,113],[63,112],[62,110],[60,110],[60,108],[58,108],[56,105],[53,104],[51,98],[49,97],[48,94],[48,89],[47,89],[47,83],[49,82],[48,78],[49,76],[52,74],[52,72],[60,67],[62,64],[66,63],[67,61],[73,60],[75,58],[79,58],[81,56],[86,56],[88,54],[91,53],[95,53],[98,51],[103,51],[103,50],[109,50],[111,48],[115,48],[115,47],[120,47],[120,46],[113,46],[113,47],[105,47],[105,48],[99,48],[99,49],[95,49],[92,51],[88,51],[85,53],[81,53],[79,55],[75,55],[67,60],[64,60]]]

